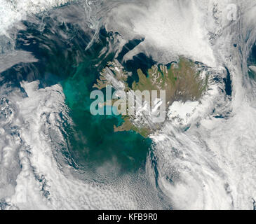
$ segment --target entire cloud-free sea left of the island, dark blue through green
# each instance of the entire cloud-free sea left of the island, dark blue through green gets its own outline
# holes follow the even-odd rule
[[[14,79],[18,69],[17,83],[22,76],[22,80],[40,80],[41,87],[62,85],[74,122],[74,127],[65,127],[69,152],[86,172],[93,173],[92,176],[116,171],[121,175],[144,167],[150,139],[135,132],[115,133],[114,125],[123,122],[121,116],[90,114],[93,102],[90,92],[100,71],[114,59],[116,52],[112,45],[116,34],[102,29],[97,41],[85,50],[90,38],[79,26],[63,25],[55,18],[44,18],[44,21],[43,31],[31,22],[24,22],[27,29],[20,31],[16,43],[21,50],[33,52],[39,61],[19,69],[9,69],[5,76]],[[67,35],[61,35],[63,33]]]

